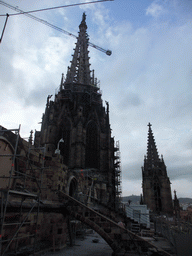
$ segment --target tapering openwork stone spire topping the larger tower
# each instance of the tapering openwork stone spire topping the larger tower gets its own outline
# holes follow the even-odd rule
[[[71,67],[68,67],[65,83],[77,83],[90,85],[90,64],[88,56],[88,35],[86,25],[86,15],[83,13],[81,24],[79,25],[79,36],[77,37]]]

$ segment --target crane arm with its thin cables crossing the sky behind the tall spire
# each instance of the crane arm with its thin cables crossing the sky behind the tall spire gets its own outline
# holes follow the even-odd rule
[[[56,9],[56,8],[64,8],[64,7],[69,7],[69,6],[83,5],[83,4],[88,4],[88,3],[97,3],[97,2],[104,2],[104,1],[113,1],[113,0],[100,0],[100,1],[79,3],[79,4],[68,5],[68,6],[50,7],[50,8],[52,8],[52,9],[53,9],[53,8],[54,8],[54,9]],[[15,11],[19,12],[18,14],[26,15],[27,17],[29,17],[29,18],[31,18],[31,19],[33,19],[33,20],[36,20],[36,21],[38,21],[38,22],[40,22],[40,23],[42,23],[42,24],[44,24],[44,25],[46,25],[46,26],[48,26],[48,27],[51,27],[51,28],[53,28],[53,29],[55,29],[55,30],[57,30],[57,31],[60,31],[61,33],[67,34],[67,35],[72,36],[72,37],[74,37],[74,38],[77,39],[77,36],[76,36],[76,35],[74,35],[74,34],[68,32],[68,31],[66,31],[66,30],[64,30],[64,29],[62,29],[62,28],[59,28],[59,27],[57,27],[57,26],[55,26],[55,25],[53,25],[53,24],[47,22],[46,20],[40,19],[40,18],[38,18],[38,17],[36,17],[36,16],[34,16],[34,15],[29,14],[29,12],[44,11],[44,10],[48,10],[48,9],[50,9],[50,8],[41,9],[41,10],[35,10],[35,11],[29,11],[29,12],[24,12],[24,11],[22,11],[21,9],[19,9],[19,8],[17,8],[17,7],[14,7],[14,6],[10,5],[10,4],[7,4],[7,3],[5,3],[5,2],[3,2],[3,1],[1,1],[1,0],[0,0],[0,4],[6,6],[6,7],[8,7],[8,8],[10,8],[10,9],[12,9],[12,10],[15,10]],[[13,15],[13,14],[11,14],[11,15]],[[8,16],[10,16],[10,15],[8,15]],[[7,19],[6,19],[6,21],[7,21]],[[5,28],[5,26],[4,26],[4,28]],[[4,31],[3,31],[3,33],[4,33]],[[2,38],[1,38],[1,40],[2,40]],[[93,43],[91,43],[91,42],[89,42],[88,44],[89,44],[90,46],[92,46],[93,48],[95,48],[95,49],[97,49],[97,50],[100,50],[100,51],[106,53],[108,56],[110,56],[110,55],[112,54],[112,52],[111,52],[110,50],[105,50],[105,49],[103,49],[102,47],[97,46],[97,45],[95,45],[95,44],[93,44]]]

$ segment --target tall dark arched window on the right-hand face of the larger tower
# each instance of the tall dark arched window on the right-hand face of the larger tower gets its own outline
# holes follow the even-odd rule
[[[99,168],[98,160],[98,129],[96,123],[91,121],[86,130],[85,167]]]

